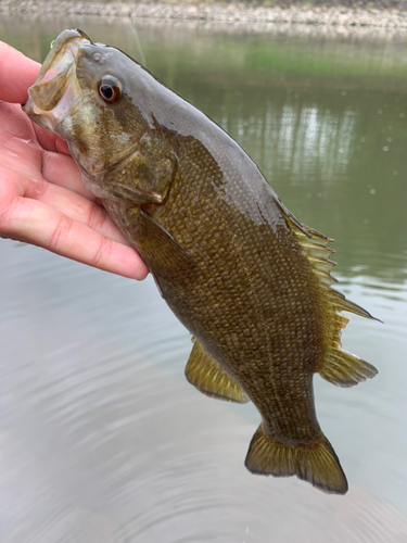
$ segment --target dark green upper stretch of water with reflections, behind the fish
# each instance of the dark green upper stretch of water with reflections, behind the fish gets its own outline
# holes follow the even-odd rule
[[[1,39],[41,60],[65,27],[140,59],[120,18],[2,20]],[[221,125],[285,205],[335,238],[342,275],[407,278],[404,38],[138,22],[149,70]]]

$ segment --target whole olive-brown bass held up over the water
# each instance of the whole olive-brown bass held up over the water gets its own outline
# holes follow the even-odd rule
[[[81,30],[56,38],[28,94],[29,118],[67,141],[85,187],[191,332],[187,380],[256,406],[246,468],[345,494],[313,378],[353,387],[378,371],[341,346],[342,312],[374,317],[332,288],[333,240],[296,219],[204,113]]]

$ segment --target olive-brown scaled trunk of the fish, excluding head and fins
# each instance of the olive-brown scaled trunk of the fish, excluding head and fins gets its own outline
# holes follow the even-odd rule
[[[318,281],[263,179],[262,200],[254,200],[251,179],[258,182],[259,173],[249,157],[242,178],[232,165],[225,175],[213,157],[207,172],[202,143],[180,148],[168,200],[148,213],[191,257],[191,269],[173,277],[155,244],[138,239],[133,217],[120,226],[170,308],[243,386],[269,432],[313,442],[319,427],[309,376],[323,356]],[[219,193],[224,185],[240,194],[239,209]]]

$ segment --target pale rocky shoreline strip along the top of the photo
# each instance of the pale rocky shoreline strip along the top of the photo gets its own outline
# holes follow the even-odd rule
[[[406,1],[407,9],[407,1]],[[345,5],[251,7],[219,3],[127,3],[58,0],[1,0],[0,13],[21,15],[87,15],[130,20],[275,23],[332,27],[407,28],[407,11],[360,9]]]

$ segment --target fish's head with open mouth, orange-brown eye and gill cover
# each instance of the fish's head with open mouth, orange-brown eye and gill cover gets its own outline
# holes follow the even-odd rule
[[[81,30],[64,30],[28,89],[25,112],[67,141],[85,187],[96,195],[162,204],[178,159],[174,138],[152,111],[156,85],[118,49],[94,43]]]

